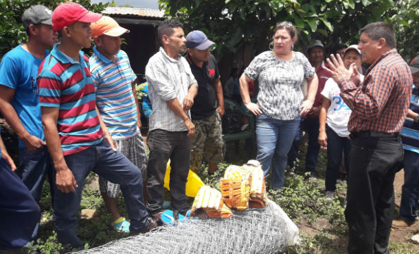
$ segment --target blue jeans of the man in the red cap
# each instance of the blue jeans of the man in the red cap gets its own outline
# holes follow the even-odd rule
[[[80,207],[84,179],[91,171],[121,186],[126,203],[126,212],[131,219],[130,231],[140,231],[150,224],[144,206],[141,171],[122,153],[113,151],[106,140],[88,149],[66,155],[65,162],[73,173],[78,188],[76,192],[64,193],[55,188],[54,223],[57,237],[62,244],[74,248],[82,246],[77,237],[77,213]],[[55,180],[55,177],[54,177]]]

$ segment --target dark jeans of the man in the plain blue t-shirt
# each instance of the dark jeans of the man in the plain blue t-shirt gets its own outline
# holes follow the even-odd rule
[[[51,187],[51,196],[54,196],[52,188],[52,160],[46,146],[38,151],[30,152],[24,148],[19,149],[19,168],[17,175],[22,179],[25,186],[30,190],[36,202],[41,199],[45,177],[48,177]]]

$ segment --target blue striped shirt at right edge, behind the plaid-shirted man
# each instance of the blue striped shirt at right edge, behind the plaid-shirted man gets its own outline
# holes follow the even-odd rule
[[[410,109],[419,113],[419,88],[414,86],[411,92]],[[419,123],[415,123],[413,119],[406,118],[402,131],[403,149],[419,153]]]

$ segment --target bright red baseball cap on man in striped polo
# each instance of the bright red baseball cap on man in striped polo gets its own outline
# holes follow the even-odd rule
[[[101,17],[102,14],[89,12],[78,3],[60,3],[52,13],[52,29],[54,31],[60,31],[76,21],[93,23]]]

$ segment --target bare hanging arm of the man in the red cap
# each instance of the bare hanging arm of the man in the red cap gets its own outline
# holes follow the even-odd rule
[[[58,120],[58,107],[41,107],[42,112],[42,125],[47,141],[49,154],[54,162],[56,170],[56,185],[58,190],[64,193],[75,192],[77,188],[76,179],[71,173],[64,160],[63,149],[61,149],[60,136],[58,136],[57,120]]]

